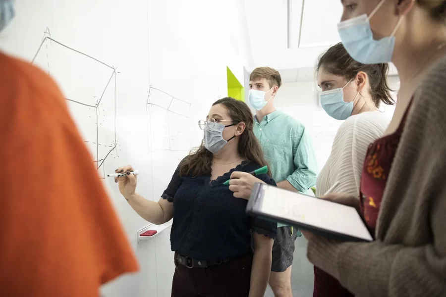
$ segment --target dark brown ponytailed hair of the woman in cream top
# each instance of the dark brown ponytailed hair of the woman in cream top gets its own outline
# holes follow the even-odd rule
[[[344,46],[338,43],[319,57],[316,72],[321,67],[324,67],[324,70],[328,73],[345,77],[347,81],[354,78],[358,72],[365,72],[370,81],[370,95],[372,95],[375,106],[379,107],[381,102],[388,105],[395,104],[390,95],[392,90],[387,83],[388,64],[361,64],[356,62]]]

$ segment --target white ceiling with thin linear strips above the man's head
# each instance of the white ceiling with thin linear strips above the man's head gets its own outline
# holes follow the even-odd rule
[[[339,0],[244,0],[253,66],[278,69],[283,82],[314,79],[319,55],[340,42]],[[391,65],[390,74],[396,74]]]

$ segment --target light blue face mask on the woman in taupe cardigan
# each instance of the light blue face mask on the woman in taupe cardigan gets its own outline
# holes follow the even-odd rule
[[[337,31],[342,45],[356,61],[363,64],[390,63],[395,46],[395,33],[401,24],[402,18],[398,20],[390,37],[380,40],[373,39],[370,28],[370,18],[383,5],[385,0],[381,0],[369,16],[362,14],[355,18],[337,24]]]

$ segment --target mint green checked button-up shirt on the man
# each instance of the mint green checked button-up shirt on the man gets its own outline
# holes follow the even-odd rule
[[[317,161],[305,126],[280,110],[266,115],[262,122],[254,116],[254,134],[270,163],[274,180],[287,180],[299,192],[316,184]],[[286,226],[278,224],[278,227]]]

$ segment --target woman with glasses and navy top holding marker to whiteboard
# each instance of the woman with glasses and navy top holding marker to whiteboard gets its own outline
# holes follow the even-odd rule
[[[131,166],[116,170],[127,172],[117,179],[119,191],[147,221],[159,225],[173,218],[172,297],[263,296],[277,224],[248,217],[247,201],[234,198],[223,185],[232,172],[266,165],[252,114],[244,102],[224,98],[212,105],[199,126],[204,130],[202,145],[180,162],[158,202],[135,193]],[[258,177],[275,184],[267,174]]]

